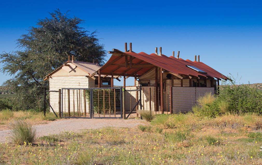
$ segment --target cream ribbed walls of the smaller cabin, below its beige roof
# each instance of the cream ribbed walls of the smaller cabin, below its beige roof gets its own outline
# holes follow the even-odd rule
[[[52,77],[49,79],[49,90],[56,90],[61,88],[90,88],[94,87],[95,81],[86,76],[61,76]],[[77,112],[77,99],[79,103],[79,94],[77,96],[78,90],[70,90],[70,112],[73,112],[73,99],[75,101],[75,112]],[[77,98],[78,97],[78,98]],[[63,111],[68,112],[68,96],[67,90],[63,90]],[[50,104],[54,111],[58,112],[58,92],[50,92]],[[84,112],[84,97],[83,90],[80,90],[80,110]],[[79,106],[79,105],[78,105]],[[89,100],[86,99],[86,112],[89,112]]]

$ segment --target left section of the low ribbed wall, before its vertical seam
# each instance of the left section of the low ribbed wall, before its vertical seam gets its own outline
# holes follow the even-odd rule
[[[172,87],[173,112],[188,112],[195,105],[195,87]]]

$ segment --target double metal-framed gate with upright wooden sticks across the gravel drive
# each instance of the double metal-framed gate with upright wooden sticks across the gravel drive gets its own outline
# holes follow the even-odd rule
[[[61,89],[61,118],[122,117],[122,87]]]

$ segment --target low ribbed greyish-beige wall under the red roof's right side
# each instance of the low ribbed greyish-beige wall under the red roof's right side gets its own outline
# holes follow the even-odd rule
[[[172,87],[173,113],[188,112],[196,104],[197,98],[206,93],[214,94],[212,87]]]

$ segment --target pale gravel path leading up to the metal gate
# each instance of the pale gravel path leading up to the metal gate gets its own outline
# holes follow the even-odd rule
[[[80,132],[85,129],[99,129],[103,127],[136,127],[144,124],[139,119],[59,119],[47,124],[34,125],[36,136],[46,136],[49,134],[58,134],[62,131]],[[0,142],[9,141],[11,130],[0,131]]]

